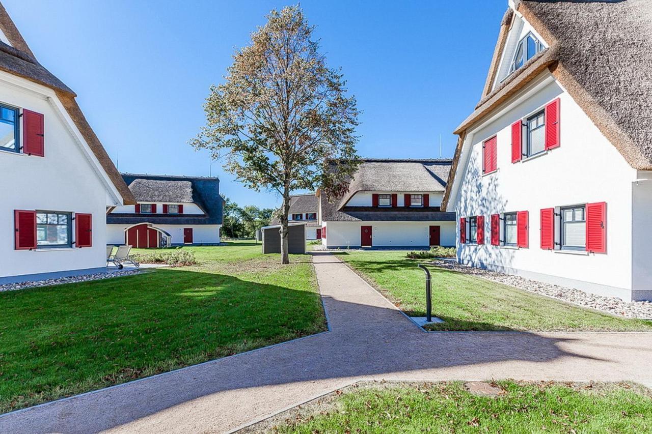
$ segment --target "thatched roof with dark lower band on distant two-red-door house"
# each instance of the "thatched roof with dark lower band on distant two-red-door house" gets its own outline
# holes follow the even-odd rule
[[[321,220],[331,221],[428,221],[441,218],[439,207],[409,211],[395,209],[347,207],[357,192],[443,192],[451,170],[451,160],[367,158],[358,167],[343,197],[330,200],[325,194],[321,201]]]

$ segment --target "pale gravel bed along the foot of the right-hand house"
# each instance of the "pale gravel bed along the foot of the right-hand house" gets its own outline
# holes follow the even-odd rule
[[[652,302],[625,302],[617,297],[604,297],[602,295],[585,293],[579,289],[537,282],[511,274],[503,274],[484,270],[483,268],[451,263],[451,261],[433,261],[432,265],[472,274],[473,276],[492,280],[493,282],[504,283],[505,285],[524,289],[531,293],[545,295],[546,297],[557,298],[558,300],[577,304],[585,308],[600,310],[627,318],[652,319]]]

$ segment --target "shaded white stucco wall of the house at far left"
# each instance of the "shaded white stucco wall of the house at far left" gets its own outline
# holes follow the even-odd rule
[[[45,154],[0,151],[0,278],[106,266],[106,207],[114,205],[117,198],[106,188],[103,169],[93,166],[95,156],[87,145],[75,141],[74,137],[81,136],[74,124],[66,123],[69,118],[55,94],[0,73],[0,102],[44,115]],[[93,246],[14,250],[16,209],[91,213]]]

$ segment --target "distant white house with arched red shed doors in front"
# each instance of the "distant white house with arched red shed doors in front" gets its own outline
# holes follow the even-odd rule
[[[220,243],[220,180],[209,177],[123,173],[135,205],[106,216],[108,242],[136,248]]]

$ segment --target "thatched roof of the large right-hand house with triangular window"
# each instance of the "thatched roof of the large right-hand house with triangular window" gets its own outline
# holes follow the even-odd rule
[[[652,169],[652,1],[521,0],[516,8],[549,48],[490,89],[511,26],[508,10],[481,101],[455,134],[464,136],[548,70],[630,166]],[[462,143],[455,151],[455,168]],[[454,170],[449,186],[453,178]],[[447,191],[444,206],[448,195]]]

